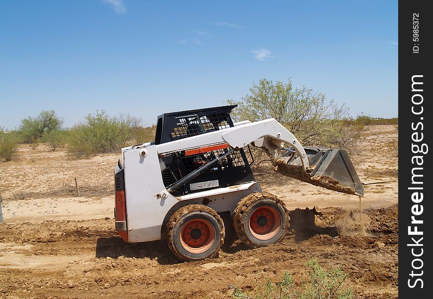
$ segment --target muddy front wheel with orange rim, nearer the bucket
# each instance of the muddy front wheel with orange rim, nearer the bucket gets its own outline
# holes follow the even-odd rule
[[[289,224],[284,202],[268,192],[254,192],[238,202],[233,211],[237,236],[250,247],[277,243]]]

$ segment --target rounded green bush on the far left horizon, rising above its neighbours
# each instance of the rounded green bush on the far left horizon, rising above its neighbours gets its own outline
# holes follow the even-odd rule
[[[43,138],[44,133],[60,130],[62,125],[63,120],[54,110],[42,110],[35,118],[29,116],[21,120],[18,131],[24,143],[36,143]]]

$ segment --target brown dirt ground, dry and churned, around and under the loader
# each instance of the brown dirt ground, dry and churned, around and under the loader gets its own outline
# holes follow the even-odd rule
[[[289,210],[317,206],[319,228],[256,249],[229,237],[219,257],[189,263],[165,241],[126,244],[113,231],[118,155],[73,160],[23,145],[0,163],[0,298],[229,298],[228,285],[248,291],[285,271],[303,281],[311,257],[341,267],[354,298],[398,298],[397,140],[395,126],[368,127],[353,159],[362,182],[382,183],[365,185],[362,209],[357,196],[256,169]]]

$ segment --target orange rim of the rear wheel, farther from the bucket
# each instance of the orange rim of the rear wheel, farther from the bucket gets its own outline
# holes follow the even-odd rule
[[[186,251],[193,254],[204,253],[215,242],[215,229],[207,220],[190,220],[182,226],[180,241]]]

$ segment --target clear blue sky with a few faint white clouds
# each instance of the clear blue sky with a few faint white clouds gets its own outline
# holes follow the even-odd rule
[[[261,78],[396,117],[397,59],[397,1],[2,1],[0,127],[49,109],[66,127],[96,110],[150,125]]]

